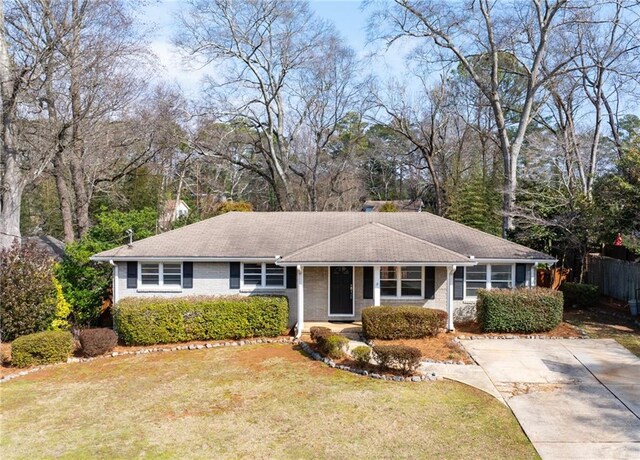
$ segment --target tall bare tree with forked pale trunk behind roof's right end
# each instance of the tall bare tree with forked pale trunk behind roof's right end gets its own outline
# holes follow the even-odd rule
[[[427,39],[440,64],[466,72],[489,103],[495,120],[503,164],[503,235],[513,227],[518,158],[525,134],[536,115],[537,97],[551,79],[565,72],[576,53],[550,55],[549,48],[572,27],[566,0],[505,6],[489,0],[464,3],[396,0],[382,8],[372,22],[388,45],[402,37]],[[505,65],[515,60],[517,65]],[[543,71],[546,69],[546,71]],[[517,120],[508,116],[501,78],[517,73],[524,81]]]

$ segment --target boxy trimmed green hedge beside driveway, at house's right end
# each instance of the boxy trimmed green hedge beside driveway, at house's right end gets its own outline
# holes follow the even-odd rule
[[[478,322],[484,332],[546,332],[562,321],[562,304],[551,289],[481,289]]]

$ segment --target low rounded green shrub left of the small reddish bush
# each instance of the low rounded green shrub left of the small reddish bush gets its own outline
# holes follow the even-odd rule
[[[44,331],[18,337],[11,344],[11,363],[17,367],[66,361],[75,349],[68,331]]]

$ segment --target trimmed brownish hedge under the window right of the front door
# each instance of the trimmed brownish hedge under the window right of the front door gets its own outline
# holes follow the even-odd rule
[[[398,306],[362,309],[362,331],[369,339],[434,337],[446,324],[447,312],[432,308]]]

